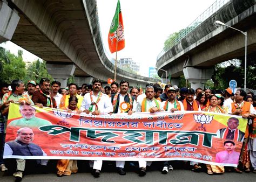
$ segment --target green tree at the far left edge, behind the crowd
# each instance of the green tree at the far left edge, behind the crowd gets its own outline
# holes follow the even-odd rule
[[[26,75],[26,69],[25,62],[22,60],[22,54],[21,57],[19,57],[15,54],[11,54],[10,51],[5,51],[5,55],[8,57],[10,63],[8,64],[7,61],[2,62],[3,71],[1,73],[1,80],[7,83],[15,79],[23,80]]]

